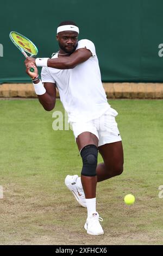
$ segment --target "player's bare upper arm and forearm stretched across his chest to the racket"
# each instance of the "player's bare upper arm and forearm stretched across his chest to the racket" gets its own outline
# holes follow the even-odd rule
[[[55,69],[73,69],[80,63],[85,62],[92,56],[92,52],[85,48],[79,48],[68,57],[54,58],[47,60],[47,66]],[[43,60],[43,59],[40,59]],[[35,65],[35,58],[27,57],[25,62],[33,62]]]

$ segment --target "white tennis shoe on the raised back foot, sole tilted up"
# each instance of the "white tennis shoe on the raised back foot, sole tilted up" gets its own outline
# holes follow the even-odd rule
[[[83,188],[77,186],[78,175],[67,175],[65,179],[65,185],[68,190],[73,193],[73,196],[76,198],[77,202],[86,208],[85,194]]]

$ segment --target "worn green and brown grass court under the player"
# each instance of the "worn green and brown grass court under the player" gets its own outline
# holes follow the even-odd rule
[[[162,244],[162,100],[109,103],[119,113],[124,172],[98,183],[104,235],[91,236],[83,228],[86,209],[64,184],[67,174],[80,175],[82,160],[73,132],[52,129],[61,102],[46,112],[36,99],[0,101],[1,245]],[[124,204],[128,193],[134,205]]]

